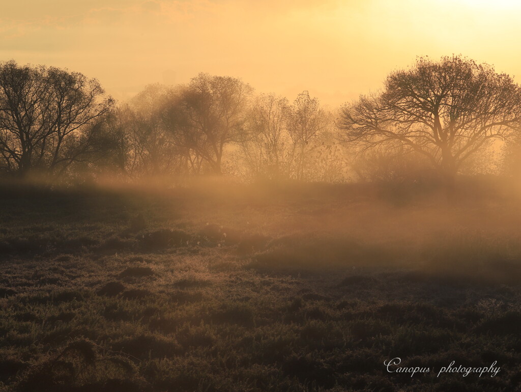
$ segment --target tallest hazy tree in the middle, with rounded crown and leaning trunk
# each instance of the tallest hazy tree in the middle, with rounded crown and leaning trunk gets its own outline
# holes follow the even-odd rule
[[[200,73],[184,91],[182,102],[190,127],[185,134],[215,174],[221,174],[225,146],[241,137],[252,90],[237,78]]]

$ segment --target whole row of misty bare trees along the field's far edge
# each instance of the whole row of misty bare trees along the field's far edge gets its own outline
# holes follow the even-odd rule
[[[149,85],[117,103],[79,72],[0,63],[3,176],[431,176],[452,186],[457,174],[494,165],[517,171],[519,129],[521,87],[462,56],[420,57],[391,72],[381,91],[339,109],[307,91],[290,101],[207,73],[175,87]]]

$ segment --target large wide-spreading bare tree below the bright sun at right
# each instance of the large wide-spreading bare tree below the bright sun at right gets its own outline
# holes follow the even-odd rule
[[[462,164],[521,124],[521,88],[505,73],[461,56],[420,57],[392,72],[383,92],[343,108],[340,139],[359,152],[414,151],[453,187]]]

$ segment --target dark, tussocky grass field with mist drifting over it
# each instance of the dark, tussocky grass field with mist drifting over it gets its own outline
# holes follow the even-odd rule
[[[516,390],[521,202],[393,192],[4,189],[0,390]]]

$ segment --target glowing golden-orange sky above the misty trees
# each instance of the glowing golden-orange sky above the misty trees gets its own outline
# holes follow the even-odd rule
[[[332,107],[378,91],[417,56],[462,54],[521,80],[517,0],[17,0],[0,60],[95,77],[123,101],[199,72]]]

